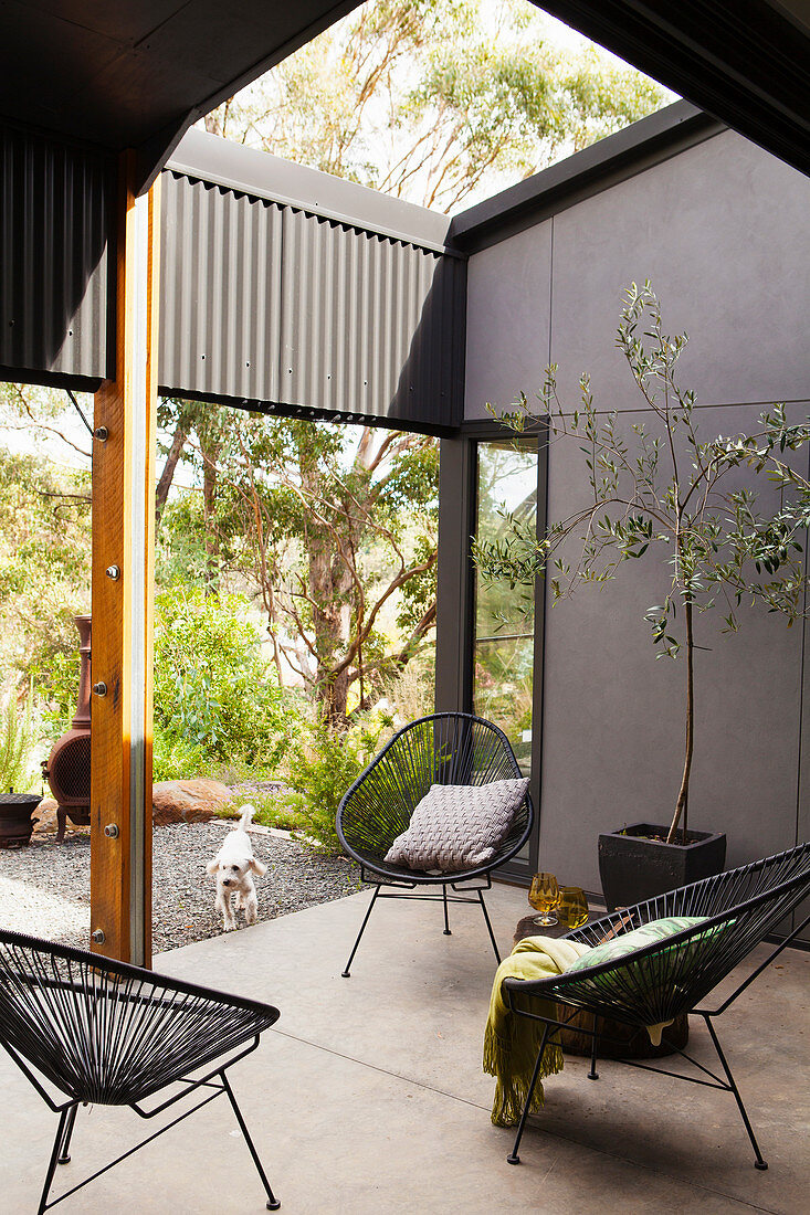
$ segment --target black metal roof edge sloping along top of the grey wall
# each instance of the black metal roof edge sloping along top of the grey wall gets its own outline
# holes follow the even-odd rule
[[[725,130],[691,102],[676,101],[455,215],[450,247],[469,254],[497,244]]]

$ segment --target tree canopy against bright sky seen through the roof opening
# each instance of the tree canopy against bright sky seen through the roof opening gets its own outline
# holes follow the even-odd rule
[[[371,0],[206,126],[451,211],[673,100],[555,27],[525,0]]]

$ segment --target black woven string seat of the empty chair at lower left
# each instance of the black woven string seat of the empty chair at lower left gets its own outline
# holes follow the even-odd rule
[[[141,1101],[277,1018],[269,1005],[0,931],[0,1040],[77,1101]]]

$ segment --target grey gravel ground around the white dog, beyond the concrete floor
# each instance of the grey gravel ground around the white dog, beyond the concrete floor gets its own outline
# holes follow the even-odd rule
[[[223,931],[214,914],[214,880],[206,863],[229,825],[221,821],[156,827],[153,836],[154,953],[206,940]],[[358,889],[360,870],[293,840],[252,832],[268,866],[257,878],[259,920],[300,911]],[[242,912],[237,912],[240,923]],[[90,931],[90,836],[34,836],[29,848],[0,850],[0,923],[4,928],[86,948]]]

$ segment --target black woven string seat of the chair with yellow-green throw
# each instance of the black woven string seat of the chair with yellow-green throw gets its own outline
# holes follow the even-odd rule
[[[506,979],[518,1008],[540,996],[635,1025],[668,1022],[697,1005],[810,894],[810,843],[639,903],[567,934],[597,945],[653,920],[705,920],[621,959],[552,979]]]

